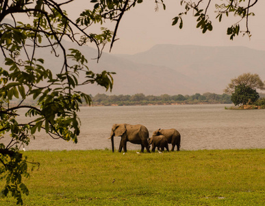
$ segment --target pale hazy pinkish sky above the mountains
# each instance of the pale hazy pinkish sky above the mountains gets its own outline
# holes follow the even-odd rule
[[[253,0],[252,0],[253,1]],[[75,1],[71,11],[79,14],[79,11],[86,8],[85,0]],[[172,26],[172,19],[183,12],[180,1],[164,0],[166,10],[162,5],[158,12],[155,12],[155,0],[145,0],[143,3],[136,5],[128,12],[125,12],[123,19],[119,25],[117,38],[114,43],[112,54],[136,54],[144,52],[157,44],[173,44],[173,45],[203,45],[203,46],[245,46],[253,49],[265,50],[265,1],[260,0],[255,5],[253,12],[255,16],[249,20],[249,29],[251,30],[251,39],[247,36],[242,37],[240,34],[234,41],[229,40],[226,34],[227,27],[231,23],[236,23],[234,16],[223,18],[221,23],[216,21],[214,11],[214,3],[210,5],[208,14],[214,23],[214,30],[202,34],[200,29],[196,28],[196,17],[192,13],[184,16],[184,27],[179,30],[178,26]],[[89,3],[91,4],[91,3]],[[108,25],[114,30],[112,25]],[[242,25],[244,26],[244,24]],[[105,49],[108,52],[108,49]]]

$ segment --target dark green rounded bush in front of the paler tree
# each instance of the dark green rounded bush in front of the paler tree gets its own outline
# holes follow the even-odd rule
[[[246,84],[239,84],[235,87],[235,92],[232,93],[231,101],[237,105],[253,104],[260,98],[260,95],[255,89]]]

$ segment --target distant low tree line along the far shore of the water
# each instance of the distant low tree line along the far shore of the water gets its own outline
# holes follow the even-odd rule
[[[150,104],[231,104],[231,95],[216,93],[195,93],[194,95],[105,95],[98,93],[91,96],[94,106],[129,106]]]

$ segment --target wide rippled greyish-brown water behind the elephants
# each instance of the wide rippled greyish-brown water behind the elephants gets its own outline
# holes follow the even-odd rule
[[[231,105],[81,107],[81,135],[77,144],[39,133],[25,149],[111,149],[108,137],[112,124],[116,123],[142,124],[150,136],[158,128],[176,128],[181,134],[181,150],[265,148],[265,110],[225,110],[225,106]],[[117,149],[121,137],[114,139]],[[140,145],[127,143],[127,150],[140,150]]]

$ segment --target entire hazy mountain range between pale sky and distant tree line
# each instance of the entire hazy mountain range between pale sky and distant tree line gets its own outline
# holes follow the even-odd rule
[[[76,47],[70,42],[65,45]],[[92,71],[116,72],[112,90],[116,95],[223,93],[231,78],[242,73],[258,73],[262,80],[265,79],[265,52],[247,47],[156,45],[147,52],[134,55],[103,53],[99,63],[91,59],[97,57],[95,49],[86,46],[77,49],[88,58],[88,67]],[[50,49],[39,49],[38,54],[46,59],[51,71],[62,69],[62,62],[51,54]],[[0,59],[3,62],[1,56]],[[97,85],[88,85],[81,90],[92,95],[105,93]]]

